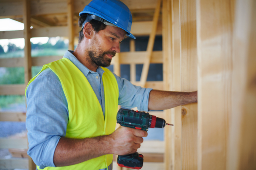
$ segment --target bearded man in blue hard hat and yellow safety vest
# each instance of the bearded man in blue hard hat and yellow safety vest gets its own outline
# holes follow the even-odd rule
[[[105,67],[131,33],[131,12],[119,0],[93,0],[80,12],[79,44],[44,65],[26,88],[29,150],[37,169],[111,170],[112,154],[134,153],[147,132],[115,131],[117,105],[163,110],[197,102],[197,92],[132,85]]]

